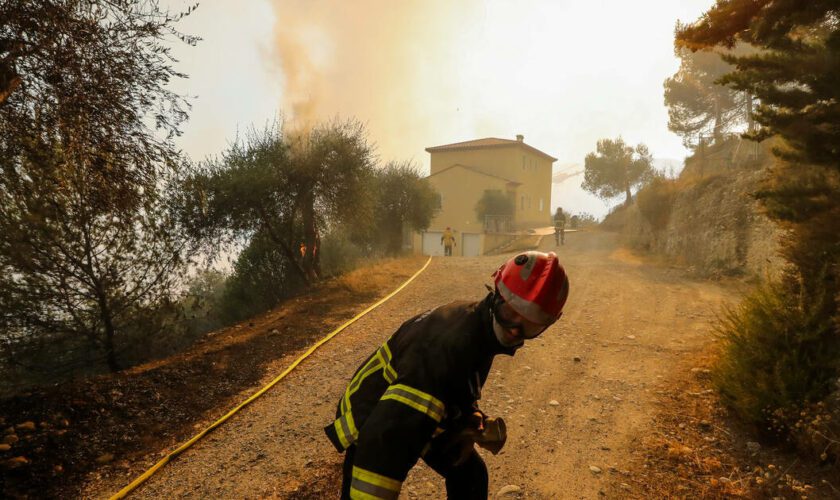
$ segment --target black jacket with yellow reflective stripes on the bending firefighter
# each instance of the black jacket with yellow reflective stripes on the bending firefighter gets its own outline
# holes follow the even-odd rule
[[[397,498],[433,436],[475,411],[496,354],[492,294],[453,302],[400,326],[356,371],[325,428],[339,451],[356,446],[352,498]]]

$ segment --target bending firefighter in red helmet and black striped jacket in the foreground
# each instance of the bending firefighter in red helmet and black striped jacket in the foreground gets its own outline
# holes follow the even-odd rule
[[[483,300],[409,319],[356,370],[325,428],[345,452],[342,498],[397,498],[419,458],[445,478],[449,498],[487,498],[474,443],[497,453],[506,436],[479,409],[481,388],[493,358],[557,321],[569,293],[553,252],[519,254],[493,277]]]

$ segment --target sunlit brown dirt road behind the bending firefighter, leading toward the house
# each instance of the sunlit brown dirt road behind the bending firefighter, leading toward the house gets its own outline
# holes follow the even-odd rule
[[[610,483],[630,481],[622,463],[647,432],[660,388],[713,341],[710,322],[721,303],[735,297],[714,283],[686,279],[678,269],[642,262],[611,234],[566,238],[556,251],[571,280],[567,312],[514,358],[497,358],[483,392],[484,411],[504,416],[509,429],[505,450],[485,455],[491,497],[513,485],[513,497],[597,498]],[[541,248],[554,249],[553,243],[544,238]],[[505,258],[436,258],[402,293],[133,496],[335,497],[342,457],[322,427],[356,367],[408,317],[451,300],[483,297],[483,283]],[[279,360],[271,372],[298,355]],[[122,486],[124,478],[106,478],[86,491],[101,497]],[[422,465],[402,494],[443,497],[443,481]]]

